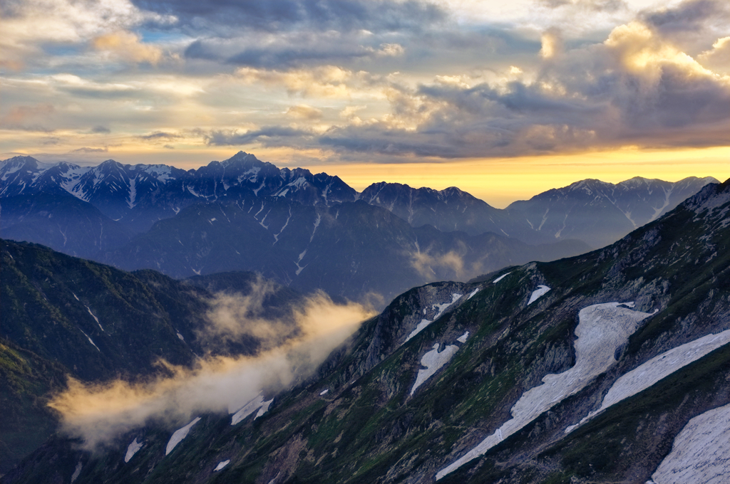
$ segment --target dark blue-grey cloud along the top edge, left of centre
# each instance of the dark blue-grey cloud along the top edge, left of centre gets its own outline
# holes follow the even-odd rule
[[[392,0],[133,0],[145,10],[174,15],[177,26],[228,34],[250,29],[286,31],[312,28],[318,31],[418,31],[439,22],[446,13],[422,1]]]

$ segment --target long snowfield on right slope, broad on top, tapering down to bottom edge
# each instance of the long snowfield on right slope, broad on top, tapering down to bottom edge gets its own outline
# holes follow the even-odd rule
[[[575,365],[558,375],[545,375],[542,385],[526,391],[515,403],[509,421],[457,461],[441,469],[436,479],[439,480],[466,462],[483,456],[505,437],[518,432],[546,410],[577,393],[591,383],[593,378],[615,364],[613,356],[616,349],[629,340],[641,321],[651,316],[650,313],[620,307],[620,304],[596,304],[581,309],[575,328],[575,335],[578,337],[575,340]]]

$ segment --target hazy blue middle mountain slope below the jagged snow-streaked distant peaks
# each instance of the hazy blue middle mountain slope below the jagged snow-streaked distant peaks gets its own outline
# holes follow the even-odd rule
[[[427,282],[586,250],[577,241],[529,246],[494,234],[414,229],[362,201],[326,207],[247,198],[185,208],[101,259],[173,277],[253,270],[305,292],[322,289],[350,300],[372,293],[389,300]]]

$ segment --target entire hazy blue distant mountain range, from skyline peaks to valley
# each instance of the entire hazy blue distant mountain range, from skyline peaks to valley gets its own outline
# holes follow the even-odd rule
[[[381,182],[358,193],[244,152],[189,171],[14,157],[0,162],[0,230],[126,270],[254,270],[382,308],[412,286],[612,243],[711,182],[584,180],[500,210],[456,187]]]

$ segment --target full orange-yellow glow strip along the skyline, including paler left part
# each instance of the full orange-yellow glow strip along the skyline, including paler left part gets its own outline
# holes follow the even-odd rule
[[[189,170],[223,161],[239,151],[237,147],[155,150],[127,145],[100,154],[93,162],[113,159],[123,164],[165,164]],[[320,150],[246,148],[255,157],[278,168],[307,168],[312,173],[339,176],[358,192],[377,182],[401,183],[410,187],[443,190],[458,187],[495,208],[505,208],[515,200],[528,200],[553,188],[566,187],[583,179],[618,183],[642,176],[677,182],[688,176],[713,176],[720,182],[730,179],[730,147],[683,149],[618,149],[525,157],[479,158],[469,160],[423,159],[410,163],[334,162],[323,163],[327,154]],[[34,156],[28,153],[30,156]],[[39,156],[40,155],[36,155]],[[71,163],[74,155],[66,159]],[[43,161],[43,160],[41,160]],[[49,162],[53,163],[53,162]]]

